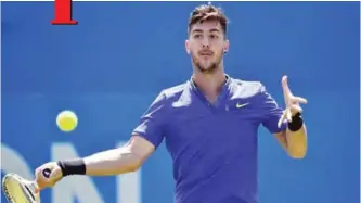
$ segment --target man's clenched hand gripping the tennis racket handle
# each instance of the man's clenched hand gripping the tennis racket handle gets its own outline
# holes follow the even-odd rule
[[[49,177],[46,177],[42,173],[47,168],[51,170]],[[56,162],[50,162],[41,165],[35,170],[35,181],[38,183],[36,192],[40,192],[42,189],[53,187],[62,178],[62,168],[57,165]]]

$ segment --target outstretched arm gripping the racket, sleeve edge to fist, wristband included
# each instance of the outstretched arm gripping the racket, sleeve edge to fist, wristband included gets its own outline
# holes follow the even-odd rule
[[[112,176],[136,172],[154,152],[155,147],[141,136],[133,134],[125,145],[99,152],[83,158],[50,162],[36,169],[36,182],[40,191],[54,186],[68,175]],[[49,177],[43,172],[50,169]]]

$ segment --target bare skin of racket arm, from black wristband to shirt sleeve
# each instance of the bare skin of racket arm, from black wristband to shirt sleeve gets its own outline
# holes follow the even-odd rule
[[[86,175],[113,176],[137,170],[154,152],[155,147],[133,135],[125,145],[95,153],[83,158]]]

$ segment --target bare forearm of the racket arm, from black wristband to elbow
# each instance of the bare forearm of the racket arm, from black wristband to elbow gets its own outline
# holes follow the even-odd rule
[[[113,176],[137,170],[141,158],[124,147],[87,156],[83,162],[87,175]]]

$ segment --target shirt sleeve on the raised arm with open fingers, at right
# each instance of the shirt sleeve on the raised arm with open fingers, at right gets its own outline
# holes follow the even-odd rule
[[[276,134],[286,129],[287,124],[282,123],[281,127],[278,127],[278,123],[282,117],[283,109],[279,107],[276,101],[272,96],[267,92],[265,86],[261,86],[261,110],[263,111],[262,125],[271,132]]]

